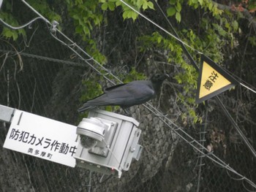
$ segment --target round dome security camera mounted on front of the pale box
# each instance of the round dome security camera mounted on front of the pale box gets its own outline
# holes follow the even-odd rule
[[[76,133],[79,135],[80,144],[86,149],[91,149],[98,142],[102,142],[107,128],[99,118],[83,118]]]

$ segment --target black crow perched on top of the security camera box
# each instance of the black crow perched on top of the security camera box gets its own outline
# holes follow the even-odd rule
[[[105,88],[102,95],[95,97],[78,109],[78,112],[94,109],[99,106],[120,106],[124,111],[134,105],[143,104],[159,93],[162,82],[168,74],[154,74],[150,80],[135,80]]]

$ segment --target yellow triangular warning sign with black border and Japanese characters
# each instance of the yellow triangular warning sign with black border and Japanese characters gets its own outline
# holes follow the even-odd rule
[[[195,102],[198,104],[206,101],[238,84],[239,82],[218,64],[211,61],[206,55],[202,55]]]

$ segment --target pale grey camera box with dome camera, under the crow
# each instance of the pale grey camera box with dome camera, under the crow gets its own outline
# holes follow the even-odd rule
[[[76,166],[121,177],[121,172],[129,169],[132,158],[140,158],[138,126],[137,120],[124,115],[90,111],[77,128]]]

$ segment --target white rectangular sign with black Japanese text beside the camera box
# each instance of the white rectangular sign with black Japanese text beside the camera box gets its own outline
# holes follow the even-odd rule
[[[4,147],[75,167],[76,126],[15,110]]]

